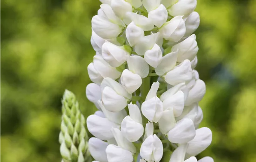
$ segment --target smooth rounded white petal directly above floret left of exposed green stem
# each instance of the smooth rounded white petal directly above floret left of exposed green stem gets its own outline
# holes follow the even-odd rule
[[[128,68],[131,72],[138,74],[141,78],[146,78],[149,73],[148,63],[141,56],[128,56]]]

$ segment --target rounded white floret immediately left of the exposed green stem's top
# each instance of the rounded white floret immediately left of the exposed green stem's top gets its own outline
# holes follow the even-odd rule
[[[134,74],[128,69],[124,69],[121,75],[121,84],[125,90],[131,94],[141,87],[142,79],[140,75]]]

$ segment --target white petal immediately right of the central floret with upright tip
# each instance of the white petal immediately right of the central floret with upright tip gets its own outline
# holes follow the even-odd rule
[[[178,117],[182,114],[184,108],[184,93],[180,90],[162,103],[164,110],[171,107],[173,108],[174,116]]]

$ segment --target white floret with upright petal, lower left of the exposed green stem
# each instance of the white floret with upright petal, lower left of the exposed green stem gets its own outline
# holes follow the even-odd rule
[[[140,139],[144,133],[141,112],[137,105],[128,104],[130,116],[126,116],[121,123],[121,133],[130,142]]]

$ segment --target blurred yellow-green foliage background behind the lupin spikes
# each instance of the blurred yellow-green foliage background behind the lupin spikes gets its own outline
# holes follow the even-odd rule
[[[61,97],[73,91],[87,117],[98,0],[1,0],[1,162],[60,162]],[[256,159],[256,0],[198,0],[195,32],[202,126],[212,145],[199,157]]]

